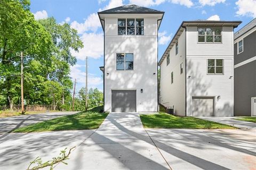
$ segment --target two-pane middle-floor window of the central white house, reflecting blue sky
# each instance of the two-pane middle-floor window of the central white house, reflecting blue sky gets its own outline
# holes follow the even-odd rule
[[[117,53],[116,70],[133,70],[133,54]]]

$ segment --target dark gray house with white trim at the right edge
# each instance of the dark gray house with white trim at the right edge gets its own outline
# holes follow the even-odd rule
[[[234,115],[256,115],[256,18],[234,35],[234,70]]]

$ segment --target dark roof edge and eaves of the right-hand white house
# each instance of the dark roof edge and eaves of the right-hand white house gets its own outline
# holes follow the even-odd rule
[[[183,30],[185,30],[186,27],[237,27],[239,24],[241,24],[242,21],[211,21],[211,20],[195,20],[195,21],[183,21],[180,24],[179,29],[175,33],[174,37],[172,38],[170,44],[167,46],[163,56],[158,62],[158,65],[161,65],[164,61],[164,58],[167,56],[167,54],[170,52],[172,47],[175,45],[176,41],[179,39],[181,33]]]

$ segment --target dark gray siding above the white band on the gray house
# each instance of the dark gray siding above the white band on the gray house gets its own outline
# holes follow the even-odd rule
[[[256,56],[256,31],[244,38],[244,51],[237,54],[237,43],[234,45],[234,64],[241,63]]]

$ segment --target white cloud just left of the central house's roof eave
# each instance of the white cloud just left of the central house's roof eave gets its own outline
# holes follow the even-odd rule
[[[73,21],[70,23],[70,26],[71,28],[76,29],[79,34],[82,34],[85,31],[97,31],[97,29],[101,27],[101,23],[98,14],[92,13],[87,17],[84,23]]]

